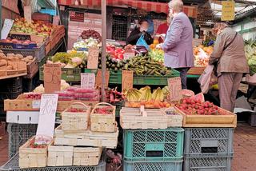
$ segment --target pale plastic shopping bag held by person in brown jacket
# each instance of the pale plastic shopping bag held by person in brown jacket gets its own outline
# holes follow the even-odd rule
[[[207,93],[211,85],[218,82],[218,78],[214,75],[214,66],[208,65],[198,79],[202,93]]]

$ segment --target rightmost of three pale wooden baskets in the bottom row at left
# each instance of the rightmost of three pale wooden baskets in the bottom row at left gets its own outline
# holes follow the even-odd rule
[[[74,147],[73,165],[98,165],[102,148]]]

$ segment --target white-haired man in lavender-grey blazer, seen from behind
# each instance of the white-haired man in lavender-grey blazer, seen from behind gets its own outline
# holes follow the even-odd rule
[[[180,72],[182,89],[186,89],[187,71],[194,66],[193,28],[190,19],[182,12],[182,0],[172,0],[168,5],[170,15],[174,18],[162,45],[165,52],[165,66]]]

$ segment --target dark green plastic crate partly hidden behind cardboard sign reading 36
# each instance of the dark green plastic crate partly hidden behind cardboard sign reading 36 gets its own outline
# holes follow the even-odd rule
[[[39,69],[39,79],[43,81],[43,67]],[[62,68],[62,80],[66,82],[80,82],[81,69],[80,68]]]

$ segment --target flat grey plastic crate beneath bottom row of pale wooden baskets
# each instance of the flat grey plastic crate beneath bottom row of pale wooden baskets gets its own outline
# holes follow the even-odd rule
[[[63,167],[44,167],[44,168],[29,168],[19,169],[18,167],[18,153],[7,161],[5,165],[0,167],[1,171],[106,171],[106,162],[100,161],[96,166],[63,166]]]

